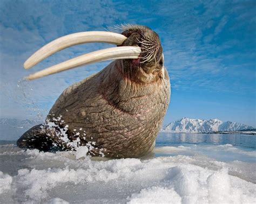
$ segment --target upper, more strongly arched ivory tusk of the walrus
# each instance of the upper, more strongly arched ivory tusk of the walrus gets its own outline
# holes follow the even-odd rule
[[[53,53],[63,50],[66,47],[83,43],[110,43],[114,45],[122,45],[125,39],[126,37],[122,34],[106,31],[89,31],[69,34],[51,41],[32,54],[31,57],[24,62],[24,68],[29,69]]]

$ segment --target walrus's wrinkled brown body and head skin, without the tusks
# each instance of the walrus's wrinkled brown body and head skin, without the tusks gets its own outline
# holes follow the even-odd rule
[[[148,27],[129,27],[122,34],[127,37],[123,46],[143,47],[139,41],[149,33],[157,47],[153,60],[115,60],[102,71],[66,88],[46,118],[48,123],[54,123],[53,128],[38,125],[30,129],[18,140],[18,146],[38,148],[35,144],[39,140],[35,138],[46,137],[47,141],[41,141],[46,147],[53,142],[72,149],[61,139],[59,131],[68,125],[68,139],[79,138],[80,146],[90,144],[91,155],[141,157],[152,151],[170,101],[163,51],[158,35]],[[141,57],[145,55],[146,52]],[[35,140],[31,142],[31,138]]]

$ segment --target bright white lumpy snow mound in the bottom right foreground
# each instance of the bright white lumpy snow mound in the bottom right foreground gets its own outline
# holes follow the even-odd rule
[[[255,199],[246,184],[226,169],[209,172],[179,165],[166,174],[160,186],[132,194],[130,203],[253,203]]]

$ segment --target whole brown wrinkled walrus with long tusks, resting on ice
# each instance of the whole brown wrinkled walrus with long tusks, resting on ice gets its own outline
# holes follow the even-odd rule
[[[51,54],[80,43],[100,41],[117,45],[28,76],[32,80],[115,59],[102,71],[66,88],[45,123],[26,131],[17,140],[17,146],[43,151],[55,146],[63,150],[87,146],[87,154],[109,158],[138,158],[153,150],[170,102],[163,48],[158,34],[147,26],[122,25],[120,29],[121,34],[96,31],[64,36],[45,45],[25,62],[24,67],[30,68]],[[107,39],[110,36],[115,39]]]

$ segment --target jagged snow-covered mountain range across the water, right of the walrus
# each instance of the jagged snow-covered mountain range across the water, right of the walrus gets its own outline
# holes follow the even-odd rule
[[[253,129],[252,126],[235,123],[223,122],[219,119],[190,119],[181,118],[178,121],[171,122],[161,129],[161,132],[215,132],[215,131],[237,131],[244,129]]]

